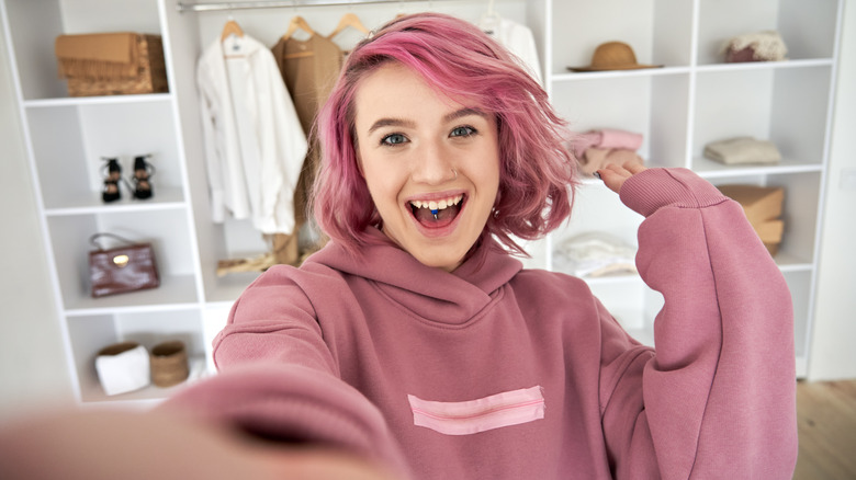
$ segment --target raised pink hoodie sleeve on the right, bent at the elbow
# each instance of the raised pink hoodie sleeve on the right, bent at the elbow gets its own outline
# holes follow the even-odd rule
[[[665,301],[653,352],[604,312],[601,422],[613,475],[791,478],[793,315],[777,265],[741,206],[689,170],[649,169],[620,196],[646,217],[637,266]]]

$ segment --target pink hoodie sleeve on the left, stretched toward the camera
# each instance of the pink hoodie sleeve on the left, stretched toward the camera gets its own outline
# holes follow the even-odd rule
[[[214,340],[218,374],[161,409],[266,439],[342,449],[408,478],[381,411],[342,381],[312,302],[274,266],[245,290]]]

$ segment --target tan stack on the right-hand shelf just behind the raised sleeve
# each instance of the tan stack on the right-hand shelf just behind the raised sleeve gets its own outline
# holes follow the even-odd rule
[[[775,256],[785,232],[785,221],[780,218],[785,190],[780,186],[720,185],[719,191],[743,207],[755,233]]]

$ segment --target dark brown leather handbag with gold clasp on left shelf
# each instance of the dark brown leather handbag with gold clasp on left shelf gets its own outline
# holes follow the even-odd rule
[[[98,242],[110,237],[120,247],[104,249]],[[155,252],[150,243],[135,243],[113,233],[95,233],[89,238],[98,250],[89,252],[89,279],[93,297],[124,294],[160,285]]]

